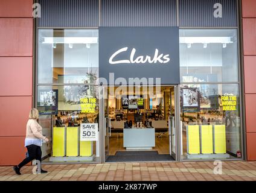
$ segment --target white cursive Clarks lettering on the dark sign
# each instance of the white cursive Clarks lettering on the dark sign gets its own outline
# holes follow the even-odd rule
[[[127,51],[128,47],[125,48],[121,48],[118,51],[116,51],[113,55],[111,55],[111,57],[109,58],[109,63],[111,65],[117,65],[117,64],[121,64],[121,63],[168,63],[170,62],[170,58],[169,58],[169,54],[164,55],[164,54],[159,54],[158,49],[155,49],[155,55],[152,59],[152,57],[150,57],[149,55],[143,56],[143,55],[139,55],[138,57],[136,57],[135,59],[135,53],[136,53],[136,49],[133,48],[132,52],[130,53],[130,60],[117,60],[114,61],[115,57],[120,54],[121,52],[125,52]]]

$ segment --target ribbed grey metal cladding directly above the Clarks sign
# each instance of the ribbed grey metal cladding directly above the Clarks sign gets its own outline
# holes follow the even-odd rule
[[[176,0],[101,0],[101,26],[176,26]]]

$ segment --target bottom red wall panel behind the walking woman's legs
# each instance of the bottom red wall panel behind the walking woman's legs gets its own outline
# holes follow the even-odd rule
[[[0,137],[0,166],[18,165],[25,158],[24,139],[25,136]]]

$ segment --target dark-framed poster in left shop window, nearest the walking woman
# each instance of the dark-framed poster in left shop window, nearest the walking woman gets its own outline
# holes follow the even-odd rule
[[[39,90],[37,109],[40,115],[58,114],[58,90]]]

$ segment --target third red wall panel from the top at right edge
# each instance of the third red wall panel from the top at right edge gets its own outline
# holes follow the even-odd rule
[[[245,93],[256,93],[256,56],[244,57]]]

